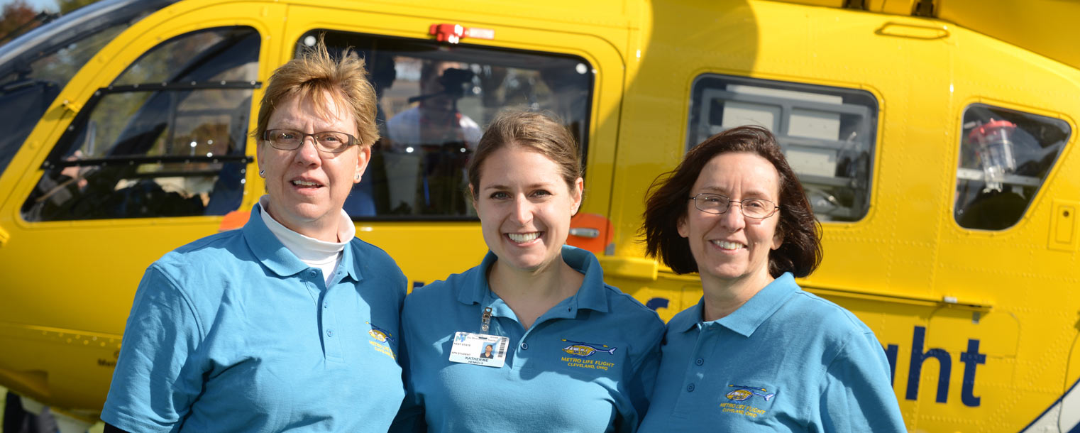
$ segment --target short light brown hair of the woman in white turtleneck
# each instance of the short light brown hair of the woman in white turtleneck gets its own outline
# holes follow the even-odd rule
[[[322,36],[315,46],[305,49],[299,56],[288,60],[270,76],[259,105],[258,123],[252,136],[261,140],[275,105],[293,96],[311,100],[319,116],[338,116],[325,112],[325,93],[329,93],[335,105],[352,113],[356,122],[356,139],[361,146],[370,146],[379,139],[379,130],[375,125],[378,96],[367,80],[364,59],[351,49],[346,49],[341,58],[334,59],[327,52]]]

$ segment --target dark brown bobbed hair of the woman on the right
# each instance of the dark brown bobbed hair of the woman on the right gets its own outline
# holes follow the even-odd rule
[[[690,243],[678,234],[678,225],[687,218],[690,189],[708,161],[728,152],[753,153],[765,158],[780,174],[780,231],[783,243],[769,252],[769,273],[780,276],[791,272],[807,276],[821,263],[821,225],[813,216],[802,185],[787,165],[777,137],[760,126],[739,126],[694,146],[674,171],[652,181],[645,203],[646,252],[657,257],[675,273],[698,272],[698,261],[690,253]]]

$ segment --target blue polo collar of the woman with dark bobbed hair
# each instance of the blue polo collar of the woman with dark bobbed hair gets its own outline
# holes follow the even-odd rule
[[[705,308],[705,298],[702,297],[698,301],[698,305],[687,310],[684,321],[677,324],[672,323],[670,326],[685,333],[699,324],[702,326],[715,324],[731,329],[743,337],[750,337],[757,330],[758,326],[769,320],[798,289],[799,286],[795,284],[795,278],[792,273],[784,272],[783,275],[780,275],[772,283],[766,285],[765,288],[750,298],[746,303],[743,303],[742,307],[739,307],[738,310],[727,316],[711,322],[702,322],[702,311]]]

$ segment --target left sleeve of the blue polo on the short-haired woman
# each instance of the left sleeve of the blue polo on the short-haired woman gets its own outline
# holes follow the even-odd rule
[[[102,420],[132,432],[179,429],[202,392],[204,335],[187,297],[156,266],[135,293]]]

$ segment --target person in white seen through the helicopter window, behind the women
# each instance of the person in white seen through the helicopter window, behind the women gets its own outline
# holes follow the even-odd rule
[[[420,95],[409,98],[416,106],[390,118],[387,131],[395,151],[416,151],[418,146],[458,144],[468,149],[480,141],[481,127],[458,110],[463,85],[473,72],[456,62],[424,60],[420,68]]]

